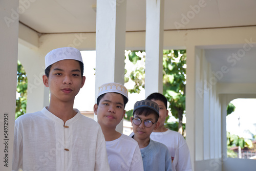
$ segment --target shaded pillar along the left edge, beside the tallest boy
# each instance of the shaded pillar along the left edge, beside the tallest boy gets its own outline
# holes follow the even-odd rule
[[[18,1],[0,2],[0,170],[12,170],[17,83]]]

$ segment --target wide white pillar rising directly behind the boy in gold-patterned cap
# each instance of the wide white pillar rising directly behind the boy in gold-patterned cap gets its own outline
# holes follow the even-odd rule
[[[99,86],[124,84],[126,0],[97,1],[95,100]],[[97,120],[97,117],[94,117]],[[122,133],[122,121],[117,131]]]

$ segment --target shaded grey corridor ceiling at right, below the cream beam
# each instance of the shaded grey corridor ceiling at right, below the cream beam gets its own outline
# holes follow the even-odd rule
[[[245,51],[243,48],[207,49],[205,50],[205,56],[211,63],[211,69],[215,73],[219,73],[220,79],[218,79],[218,82],[256,82],[256,48],[249,51]],[[224,68],[222,69],[222,67]]]

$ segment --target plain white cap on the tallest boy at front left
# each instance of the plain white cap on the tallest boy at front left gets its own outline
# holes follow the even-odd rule
[[[78,49],[72,47],[54,49],[45,57],[46,69],[53,63],[65,59],[74,59],[82,62],[82,55]]]

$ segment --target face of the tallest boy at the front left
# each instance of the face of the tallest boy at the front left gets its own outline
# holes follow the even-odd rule
[[[72,59],[53,63],[49,77],[44,75],[44,84],[49,87],[51,101],[72,101],[83,87],[86,77],[81,77],[79,62]]]

